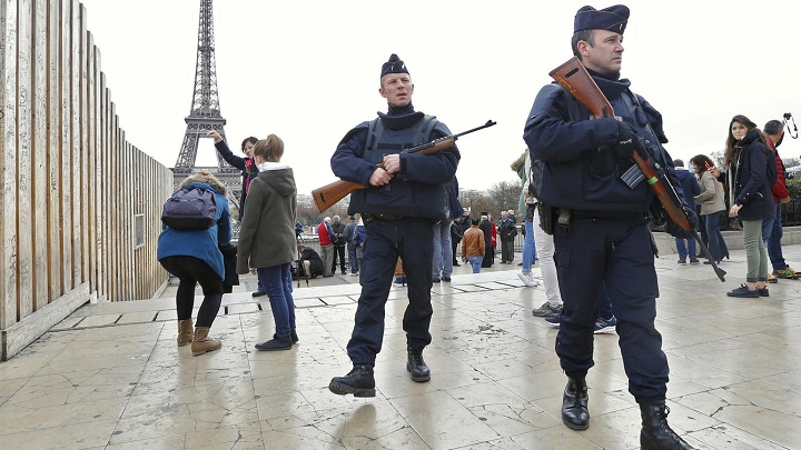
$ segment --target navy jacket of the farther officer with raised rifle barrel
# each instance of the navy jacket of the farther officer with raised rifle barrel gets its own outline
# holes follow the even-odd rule
[[[369,183],[369,178],[384,154],[398,153],[400,148],[408,149],[449,136],[448,128],[437,122],[428,137],[413,142],[413,126],[422,120],[424,114],[414,112],[411,103],[403,109],[390,108],[389,114],[379,113],[379,117],[384,131],[366,159],[364,154],[369,122],[362,122],[350,130],[330,159],[332,170],[337,177],[366,187],[350,193],[348,214],[359,212],[449,219],[445,208],[445,183],[452,181],[456,174],[459,160],[456,147],[434,154],[400,153],[400,171],[394,174],[387,186],[375,187]]]

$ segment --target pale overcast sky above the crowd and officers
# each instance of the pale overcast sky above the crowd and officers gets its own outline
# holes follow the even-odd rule
[[[199,0],[82,0],[111,100],[128,140],[167,167],[178,157],[195,81]],[[406,0],[214,3],[217,82],[231,149],[248,136],[281,137],[299,193],[334,181],[343,136],[386,110],[380,66],[407,64],[414,106],[458,140],[465,189],[515,180],[523,124],[548,71],[571,56],[585,1]],[[594,3],[605,8],[612,2]],[[622,76],[664,117],[673,158],[720,151],[732,116],[762,126],[801,117],[801,2],[630,1]],[[198,166],[216,164],[201,140]],[[801,143],[787,138],[783,158]]]

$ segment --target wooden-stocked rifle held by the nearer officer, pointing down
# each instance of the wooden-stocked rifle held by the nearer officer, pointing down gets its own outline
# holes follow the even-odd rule
[[[587,73],[584,64],[578,61],[578,58],[571,58],[564,64],[552,70],[548,74],[582,104],[584,104],[594,117],[615,117],[612,104],[609,102],[603,92],[601,92],[601,89],[599,89],[597,84],[595,84],[595,80],[590,77],[590,73]],[[643,159],[636,151],[632,152],[632,159],[644,174],[647,183],[651,184],[651,188],[653,188],[656,193],[656,198],[659,198],[660,203],[662,203],[662,207],[665,209],[673,223],[682,230],[692,233],[701,247],[703,256],[709,258],[710,264],[712,266],[712,269],[714,269],[718,278],[720,278],[721,281],[725,281],[723,276],[725,276],[726,272],[718,267],[714,258],[710,254],[709,249],[704,246],[698,231],[690,226],[690,220],[684,212],[684,209],[682,209],[681,199],[679,199],[679,194],[676,194],[673,184],[668,178],[668,171],[660,168],[659,164],[654,164],[650,159]]]

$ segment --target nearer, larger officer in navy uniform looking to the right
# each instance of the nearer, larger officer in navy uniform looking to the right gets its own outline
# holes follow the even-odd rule
[[[571,42],[619,118],[593,119],[553,83],[537,94],[523,136],[532,163],[544,164],[538,199],[547,213],[542,220],[545,227],[556,223],[554,259],[564,301],[556,353],[568,378],[562,421],[576,430],[590,426],[585,376],[593,366],[593,329],[605,282],[617,317],[629,391],[642,413],[642,448],[691,449],[668,427],[668,359],[654,328],[659,287],[645,213],[659,213],[661,206],[654,208],[659,203],[647,182],[630,188],[620,179],[636,151],[669,170],[679,186],[672,158],[660,144],[668,142],[661,114],[620,78],[627,19],[629,8],[622,4],[583,7]],[[693,223],[694,212],[685,211]]]

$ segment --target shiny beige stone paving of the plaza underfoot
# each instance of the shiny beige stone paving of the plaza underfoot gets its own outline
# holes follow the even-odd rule
[[[784,252],[801,267],[801,246]],[[723,261],[725,283],[709,266],[656,260],[670,423],[703,449],[799,449],[801,280],[770,284],[769,298],[726,298],[744,280],[744,259],[734,250]],[[433,288],[427,383],[406,372],[405,288],[393,289],[374,399],[327,388],[350,369],[355,277],[296,289],[300,342],[279,352],[254,349],[274,326],[249,276],[225,296],[211,329],[222,349],[199,357],[176,347],[175,288],[155,300],[87,304],[0,362],[0,448],[639,448],[616,334],[596,336],[591,427],[572,431],[560,419],[556,330],[531,314],[543,287],[525,288],[516,266],[455,269],[453,282]]]

